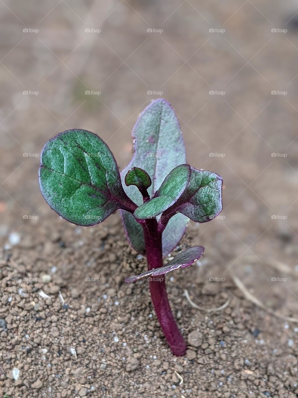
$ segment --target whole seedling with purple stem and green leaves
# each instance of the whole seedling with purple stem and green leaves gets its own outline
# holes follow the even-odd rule
[[[186,248],[163,264],[180,242],[188,220],[207,222],[222,209],[222,178],[186,164],[184,141],[171,105],[153,101],[137,119],[134,156],[122,171],[108,146],[86,130],[68,130],[46,142],[39,183],[56,213],[81,226],[99,224],[120,209],[131,246],[147,257],[148,271],[126,282],[147,278],[155,312],[174,355],[186,343],[168,302],[165,274],[188,267],[204,252]]]

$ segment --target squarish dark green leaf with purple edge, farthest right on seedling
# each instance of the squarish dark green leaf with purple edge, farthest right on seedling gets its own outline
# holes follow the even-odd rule
[[[214,219],[222,210],[223,179],[216,173],[191,168],[191,177],[180,199],[163,213],[163,219],[180,212],[195,222]]]

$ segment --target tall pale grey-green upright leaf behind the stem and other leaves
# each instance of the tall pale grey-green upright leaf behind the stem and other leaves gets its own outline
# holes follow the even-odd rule
[[[128,170],[134,166],[141,166],[151,180],[152,185],[148,192],[153,197],[170,171],[176,166],[186,162],[185,146],[180,125],[174,109],[163,99],[158,99],[141,113],[132,131],[134,140],[134,156],[130,164],[121,172],[124,178]],[[124,186],[127,195],[137,205],[143,203],[143,198],[134,185]],[[145,253],[143,229],[134,219],[134,216],[126,211],[120,210],[124,228],[132,247],[140,254]],[[172,233],[172,219],[168,222],[163,232],[163,255],[166,256],[175,248],[184,235],[188,218],[180,214],[176,219],[175,233]],[[137,238],[135,238],[137,230]],[[134,242],[137,242],[135,246]]]

